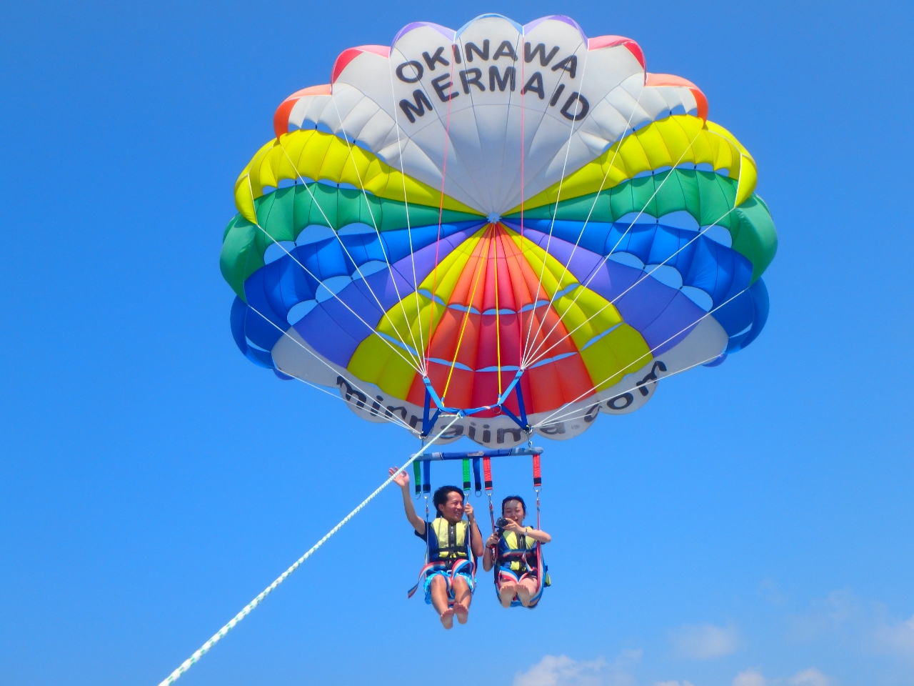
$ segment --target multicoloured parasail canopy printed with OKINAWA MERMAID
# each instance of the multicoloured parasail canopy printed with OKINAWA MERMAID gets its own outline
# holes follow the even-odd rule
[[[629,38],[410,24],[273,124],[223,241],[232,333],[368,420],[569,438],[764,326],[755,162]]]

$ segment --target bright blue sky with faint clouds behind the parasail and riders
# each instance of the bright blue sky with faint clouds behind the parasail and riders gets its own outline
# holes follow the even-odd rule
[[[391,490],[181,683],[914,683],[906,5],[186,5],[4,10],[0,682],[158,683],[417,448],[239,354],[232,185],[343,49],[561,12],[695,81],[755,156],[768,326],[540,440],[536,612],[483,579],[445,636],[406,600],[422,550]],[[528,468],[496,463],[496,492]]]

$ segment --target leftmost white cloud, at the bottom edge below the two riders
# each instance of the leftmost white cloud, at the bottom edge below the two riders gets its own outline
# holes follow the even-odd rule
[[[627,668],[641,655],[641,650],[623,650],[612,662],[547,655],[529,670],[515,674],[514,686],[633,686]]]

